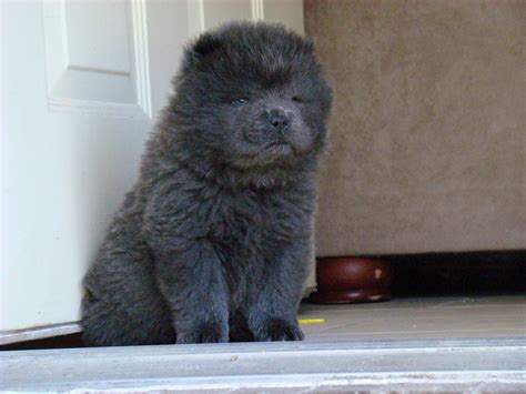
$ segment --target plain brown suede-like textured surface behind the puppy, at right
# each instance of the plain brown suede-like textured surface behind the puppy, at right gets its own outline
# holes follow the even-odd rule
[[[526,1],[304,7],[335,88],[317,254],[526,249]]]

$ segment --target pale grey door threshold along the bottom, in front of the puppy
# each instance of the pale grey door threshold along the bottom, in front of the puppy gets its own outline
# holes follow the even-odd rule
[[[526,391],[526,337],[307,341],[0,353],[2,391]]]

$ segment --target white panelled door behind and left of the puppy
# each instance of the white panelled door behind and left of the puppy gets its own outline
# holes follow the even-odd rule
[[[2,2],[1,332],[78,320],[183,43],[265,13],[303,30],[301,0]]]

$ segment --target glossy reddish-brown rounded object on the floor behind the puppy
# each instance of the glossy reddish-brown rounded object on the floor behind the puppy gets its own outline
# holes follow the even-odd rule
[[[393,270],[387,261],[366,257],[323,257],[316,262],[316,304],[374,302],[391,299]]]

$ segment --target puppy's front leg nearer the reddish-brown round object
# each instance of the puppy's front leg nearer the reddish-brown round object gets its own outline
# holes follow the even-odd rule
[[[265,266],[262,290],[249,311],[249,327],[256,341],[302,341],[297,305],[308,273],[308,242],[297,242]]]

